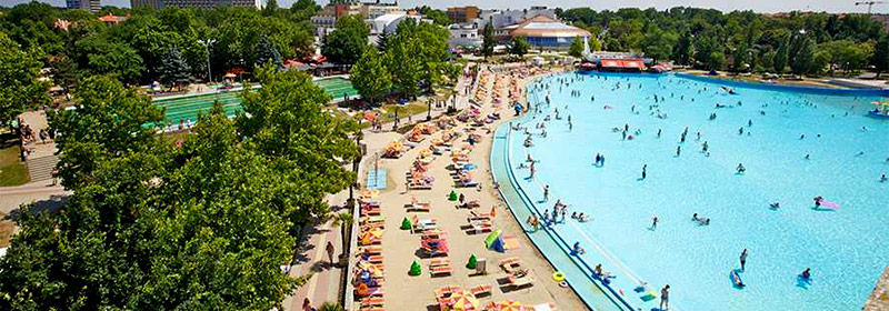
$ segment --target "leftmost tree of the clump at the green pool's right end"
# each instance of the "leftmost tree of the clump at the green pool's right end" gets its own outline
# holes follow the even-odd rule
[[[392,79],[377,49],[364,50],[364,54],[349,72],[349,80],[358,93],[371,103],[377,103],[377,99],[392,88]]]

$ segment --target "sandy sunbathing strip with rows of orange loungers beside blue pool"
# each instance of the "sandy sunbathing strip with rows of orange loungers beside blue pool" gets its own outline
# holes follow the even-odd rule
[[[376,157],[373,153],[368,156],[372,157],[370,164],[366,165],[368,171],[373,171],[374,167],[379,167],[387,172],[387,188],[379,191],[379,197],[376,199],[380,202],[379,215],[384,218],[384,230],[378,247],[381,247],[382,265],[384,267],[382,285],[384,294],[382,298],[384,299],[383,307],[386,310],[439,310],[436,291],[448,285],[460,287],[463,290],[490,285],[489,294],[478,295],[480,308],[490,302],[515,300],[523,305],[552,303],[557,310],[587,309],[570,288],[560,287],[558,282],[553,281],[552,277],[556,271],[528,240],[517,222],[519,220],[516,220],[512,213],[507,210],[508,207],[506,207],[493,188],[490,173],[489,159],[493,129],[502,122],[508,122],[513,116],[512,107],[508,103],[510,100],[503,100],[501,104],[495,106],[492,102],[493,93],[500,90],[502,92],[500,96],[506,98],[507,89],[513,88],[513,90],[521,92],[517,98],[526,102],[525,84],[536,77],[528,72],[528,69],[519,70],[512,68],[512,70],[507,70],[495,68],[493,72],[491,72],[486,67],[486,70],[488,73],[480,76],[485,78],[479,79],[480,86],[473,88],[470,96],[476,92],[477,88],[482,88],[482,92],[476,97],[476,99],[481,99],[478,114],[499,113],[501,119],[481,127],[472,127],[468,122],[457,122],[456,127],[450,129],[453,133],[459,134],[451,143],[453,150],[460,150],[469,146],[467,142],[468,130],[472,130],[472,132],[480,136],[480,139],[475,142],[472,151],[466,156],[466,160],[476,165],[473,179],[481,187],[456,188],[455,171],[449,169],[453,163],[451,153],[443,152],[439,156],[432,156],[433,160],[426,157],[428,161],[426,177],[434,179],[431,189],[408,190],[406,175],[409,175],[410,169],[416,165],[414,161],[418,156],[421,156],[421,153],[427,156],[433,140],[441,137],[442,130],[440,129],[432,134],[424,136],[422,141],[416,143],[414,148],[404,152],[398,159],[380,159],[374,163],[373,159]],[[520,74],[520,71],[523,74]],[[513,73],[515,77],[512,76]],[[510,79],[515,79],[515,84],[509,82]],[[499,83],[496,82],[498,80],[500,80]],[[495,86],[495,83],[498,84]],[[503,87],[503,83],[507,86]],[[479,97],[481,93],[487,96]],[[400,138],[401,136],[396,133],[374,133],[366,137],[366,142],[368,143],[368,150],[379,150],[386,149],[384,146]],[[362,173],[360,179],[366,180],[366,172]],[[505,252],[489,250],[485,243],[485,239],[489,233],[477,233],[475,230],[469,229],[471,228],[469,221],[470,209],[461,208],[458,201],[449,200],[451,191],[462,194],[466,202],[478,201],[479,207],[471,209],[477,213],[489,213],[493,208],[495,217],[491,218],[493,230],[500,230],[503,237],[511,240],[510,244],[518,244],[518,248],[509,249]],[[408,211],[406,205],[410,204],[412,200],[429,203],[429,211]],[[447,255],[427,257],[421,248],[423,234],[420,232],[412,233],[412,230],[399,229],[403,219],[411,220],[414,217],[420,222],[424,220],[434,220],[437,222],[439,230],[437,232],[440,232],[439,238],[447,241],[449,249]],[[359,235],[359,244],[361,243],[360,240],[361,235]],[[359,245],[358,251],[360,252],[361,250]],[[475,269],[466,267],[470,255],[473,254],[479,260],[483,259],[487,262],[487,273],[477,274]],[[501,260],[507,259],[520,261],[521,269],[528,269],[528,274],[525,277],[527,279],[523,278],[523,280],[525,282],[530,281],[530,285],[513,287],[509,283],[510,273],[499,267]],[[421,273],[419,275],[409,275],[409,270],[414,261],[420,264]],[[441,262],[449,262],[452,271],[441,275],[431,275],[430,264]],[[351,293],[349,294],[351,295]],[[358,310],[359,305],[360,303],[356,303],[356,310]]]

